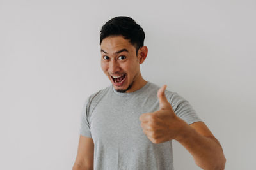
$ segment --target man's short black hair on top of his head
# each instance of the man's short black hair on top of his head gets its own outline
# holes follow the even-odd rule
[[[118,16],[112,18],[100,30],[100,45],[108,36],[122,35],[136,48],[136,55],[141,46],[144,45],[145,32],[132,18]]]

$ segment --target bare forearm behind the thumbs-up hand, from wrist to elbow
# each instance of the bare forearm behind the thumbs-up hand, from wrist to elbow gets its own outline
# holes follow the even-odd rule
[[[226,159],[215,138],[202,136],[186,124],[176,140],[191,153],[195,163],[202,169],[225,168]]]

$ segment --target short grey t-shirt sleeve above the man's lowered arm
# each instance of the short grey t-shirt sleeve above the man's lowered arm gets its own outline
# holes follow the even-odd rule
[[[90,123],[89,123],[88,101],[89,101],[89,98],[87,98],[86,101],[84,101],[83,108],[81,111],[80,134],[82,136],[92,138],[92,134],[90,131]]]

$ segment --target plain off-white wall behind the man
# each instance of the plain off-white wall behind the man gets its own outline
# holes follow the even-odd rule
[[[99,31],[143,27],[147,81],[186,98],[223,146],[255,167],[255,1],[0,1],[0,169],[72,169],[84,99],[110,85]],[[175,169],[199,169],[173,141]]]

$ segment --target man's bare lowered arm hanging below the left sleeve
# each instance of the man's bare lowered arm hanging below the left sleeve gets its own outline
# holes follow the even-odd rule
[[[72,170],[93,169],[94,143],[92,138],[80,135],[77,157]]]

